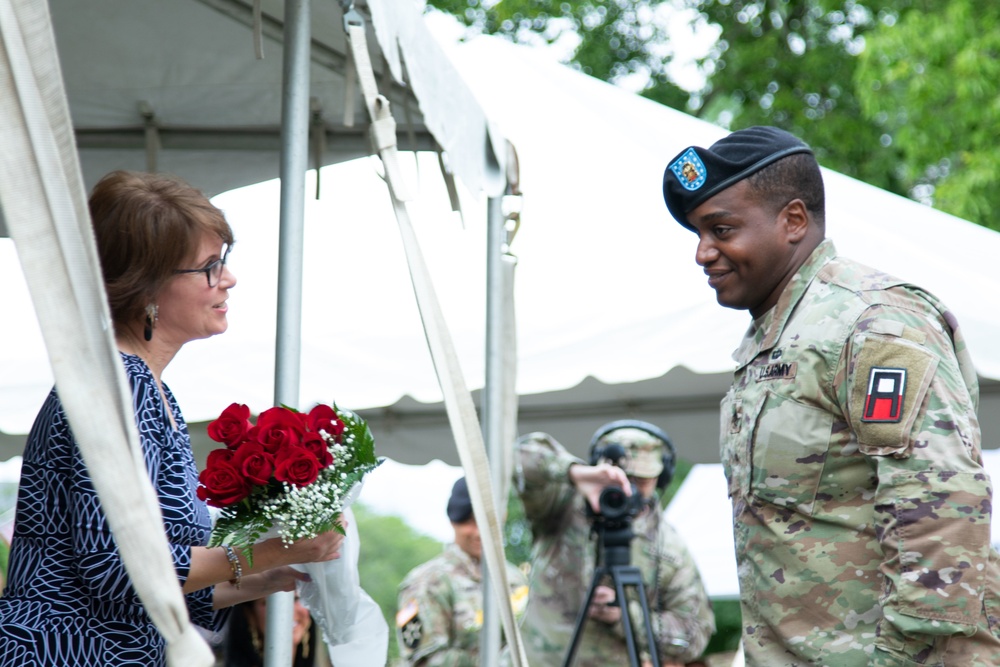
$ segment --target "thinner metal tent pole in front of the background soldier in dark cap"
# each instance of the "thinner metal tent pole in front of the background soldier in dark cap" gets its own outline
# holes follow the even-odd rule
[[[501,256],[504,251],[505,229],[500,197],[490,197],[486,208],[486,381],[483,387],[483,438],[490,460],[490,476],[496,497],[493,499],[503,517],[507,499],[501,498],[507,488],[504,465],[503,387],[504,387],[504,273]],[[484,559],[483,628],[479,636],[480,667],[496,667],[500,653],[500,610]]]

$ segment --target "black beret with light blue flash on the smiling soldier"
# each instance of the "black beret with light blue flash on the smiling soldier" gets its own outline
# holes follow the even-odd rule
[[[812,153],[812,149],[784,130],[763,126],[733,132],[710,148],[689,146],[663,172],[663,199],[670,215],[693,230],[688,213],[729,186],[795,153]]]

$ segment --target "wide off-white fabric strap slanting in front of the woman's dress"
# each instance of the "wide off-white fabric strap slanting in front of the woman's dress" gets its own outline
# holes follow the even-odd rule
[[[59,396],[167,659],[207,667],[188,620],[111,333],[48,4],[0,0],[0,204]]]

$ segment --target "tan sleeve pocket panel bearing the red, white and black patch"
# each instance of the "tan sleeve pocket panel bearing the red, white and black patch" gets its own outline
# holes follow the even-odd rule
[[[910,432],[937,358],[910,340],[866,334],[855,348],[851,425],[865,454],[909,456]]]

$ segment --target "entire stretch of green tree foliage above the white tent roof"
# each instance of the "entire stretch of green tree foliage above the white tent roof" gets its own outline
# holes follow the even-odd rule
[[[430,4],[474,32],[575,43],[570,64],[588,74],[644,77],[642,95],[725,127],[784,128],[826,167],[927,202],[933,191],[934,205],[976,222],[1000,198],[990,187],[1000,166],[992,0]],[[719,38],[704,53],[685,50],[678,26]],[[680,84],[684,64],[701,84]]]

